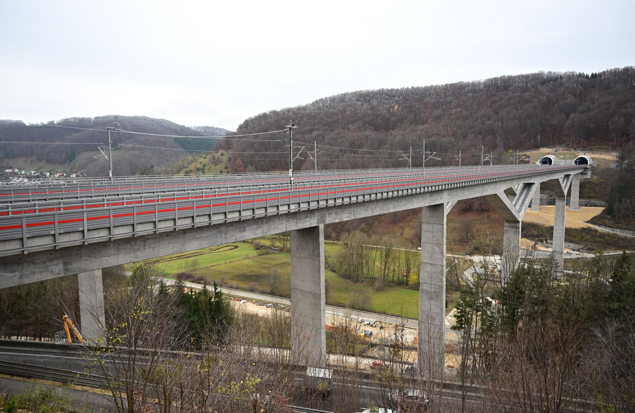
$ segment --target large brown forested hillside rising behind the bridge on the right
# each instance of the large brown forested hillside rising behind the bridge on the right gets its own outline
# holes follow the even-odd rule
[[[454,158],[443,154],[457,154],[459,149],[463,154],[480,152],[481,145],[495,155],[554,144],[620,147],[635,136],[635,67],[592,74],[538,72],[342,93],[250,117],[237,133],[283,129],[290,119],[299,127],[294,140],[328,146],[319,147],[318,167],[324,169],[403,166],[398,154],[342,148],[419,150],[424,139],[427,150],[438,152],[438,157],[447,161]],[[272,149],[284,149],[284,135],[277,138],[281,143],[226,142],[225,146],[242,152],[275,152]],[[262,139],[276,138],[269,134]],[[313,161],[304,158],[296,161],[296,169],[313,167]],[[242,161],[248,171],[285,169],[288,165],[284,154],[244,154]],[[420,156],[413,157],[414,166],[417,162],[420,166]],[[468,155],[464,162],[476,163],[478,159],[470,161]]]

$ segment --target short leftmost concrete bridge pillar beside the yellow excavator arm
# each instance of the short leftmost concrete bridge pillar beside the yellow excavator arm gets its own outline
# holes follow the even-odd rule
[[[92,270],[77,274],[79,287],[79,317],[81,334],[87,339],[96,339],[105,325],[104,284],[102,270]]]

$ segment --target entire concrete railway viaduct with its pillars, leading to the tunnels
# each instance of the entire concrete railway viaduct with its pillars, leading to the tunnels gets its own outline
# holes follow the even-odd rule
[[[589,160],[590,161],[590,160]],[[102,268],[291,232],[291,341],[324,365],[324,224],[422,208],[420,371],[443,374],[446,214],[485,195],[505,220],[504,283],[519,265],[521,221],[540,183],[556,192],[553,251],[563,264],[566,195],[578,209],[590,162],[131,177],[0,188],[0,288],[77,274],[83,334],[104,323]],[[425,357],[422,357],[424,356]]]

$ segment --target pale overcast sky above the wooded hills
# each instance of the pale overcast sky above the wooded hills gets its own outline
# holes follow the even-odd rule
[[[624,67],[634,4],[0,0],[0,119],[234,130],[345,91]]]

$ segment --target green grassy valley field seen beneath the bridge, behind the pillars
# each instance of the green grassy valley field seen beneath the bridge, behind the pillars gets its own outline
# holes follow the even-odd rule
[[[251,243],[236,242],[146,262],[156,264],[168,276],[192,272],[203,277],[208,284],[217,282],[225,287],[265,294],[273,291],[274,295],[290,296],[291,254],[272,251],[269,239],[259,241],[267,248],[257,250],[253,249]],[[327,266],[341,248],[340,244],[324,243]],[[350,282],[328,268],[324,271],[324,277],[327,284],[326,301],[330,305],[356,306],[378,313],[418,317],[419,292],[416,289],[389,285],[375,291],[371,284]],[[451,292],[448,293],[451,296]],[[448,297],[448,311],[451,310],[450,302]]]

